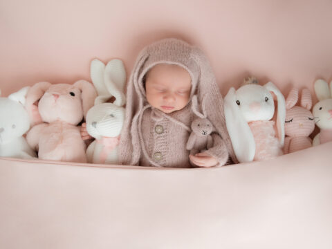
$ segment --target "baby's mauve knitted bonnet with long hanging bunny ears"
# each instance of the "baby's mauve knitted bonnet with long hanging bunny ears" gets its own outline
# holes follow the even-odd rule
[[[208,59],[199,48],[190,46],[179,39],[170,38],[143,48],[133,67],[127,86],[126,118],[119,147],[119,159],[122,165],[138,165],[139,163],[142,148],[138,136],[138,116],[148,105],[143,77],[156,64],[176,64],[188,71],[192,78],[190,99],[196,94],[199,103],[202,103],[203,97],[208,96],[205,100],[207,117],[225,141],[230,158],[237,163],[225,126],[223,98]],[[191,104],[191,101],[188,104]]]

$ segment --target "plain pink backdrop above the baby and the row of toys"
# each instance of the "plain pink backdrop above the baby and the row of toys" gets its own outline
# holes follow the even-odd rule
[[[39,81],[89,80],[98,57],[124,60],[178,37],[210,57],[223,94],[244,76],[286,94],[332,77],[332,1],[0,0],[3,95]]]

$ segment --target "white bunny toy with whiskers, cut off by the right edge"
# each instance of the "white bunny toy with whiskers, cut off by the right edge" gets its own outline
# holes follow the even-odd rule
[[[332,81],[330,87],[324,80],[316,80],[314,86],[320,101],[313,107],[313,117],[320,133],[313,138],[313,146],[332,141]]]

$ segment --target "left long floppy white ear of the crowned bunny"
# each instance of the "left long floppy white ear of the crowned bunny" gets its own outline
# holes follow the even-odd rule
[[[232,87],[225,96],[223,106],[226,127],[237,160],[240,163],[251,162],[256,152],[255,139],[236,102],[235,89]]]

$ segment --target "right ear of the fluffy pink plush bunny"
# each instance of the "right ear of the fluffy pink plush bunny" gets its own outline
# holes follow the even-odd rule
[[[78,80],[74,84],[77,89],[80,89],[82,92],[82,107],[83,107],[83,114],[84,118],[86,118],[86,113],[89,111],[91,107],[93,107],[93,103],[95,98],[97,97],[97,93],[95,88],[90,82],[86,80]]]

